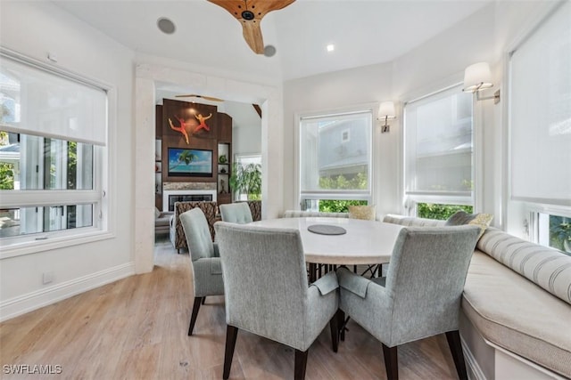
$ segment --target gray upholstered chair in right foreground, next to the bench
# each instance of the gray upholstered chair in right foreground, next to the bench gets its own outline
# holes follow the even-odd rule
[[[337,271],[340,309],[381,341],[388,379],[399,376],[397,346],[442,333],[459,378],[468,378],[459,309],[479,232],[476,226],[404,228],[385,278]]]

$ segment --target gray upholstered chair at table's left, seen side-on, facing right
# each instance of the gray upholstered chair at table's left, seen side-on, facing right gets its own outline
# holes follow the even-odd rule
[[[201,303],[207,295],[224,295],[224,282],[218,247],[212,243],[203,210],[196,207],[180,214],[180,222],[185,230],[193,270],[194,305],[188,327],[188,335],[192,336]]]

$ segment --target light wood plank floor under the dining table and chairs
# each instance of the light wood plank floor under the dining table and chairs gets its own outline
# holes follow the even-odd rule
[[[194,336],[186,336],[193,302],[188,254],[167,239],[153,272],[132,276],[0,324],[2,379],[219,379],[226,323],[224,298],[207,297]],[[311,379],[385,379],[381,344],[350,322],[339,352],[326,328],[310,347]],[[12,376],[6,364],[61,365],[62,374]],[[401,379],[456,378],[444,336],[399,348]],[[239,332],[230,378],[294,377],[294,352]]]

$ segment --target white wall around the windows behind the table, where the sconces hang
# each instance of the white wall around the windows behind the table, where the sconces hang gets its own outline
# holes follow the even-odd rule
[[[517,36],[529,27],[553,2],[494,2],[462,20],[438,36],[394,61],[363,68],[347,69],[315,77],[287,81],[284,84],[284,154],[285,183],[294,183],[294,115],[300,112],[335,109],[370,101],[410,101],[447,85],[462,81],[464,69],[477,61],[492,65],[495,85],[501,89],[503,62]],[[485,93],[489,95],[490,93]],[[478,157],[480,178],[483,179],[478,211],[497,217],[494,225],[501,227],[506,205],[505,182],[505,107],[503,101],[475,102],[476,134],[484,146]],[[402,213],[402,107],[393,121],[391,133],[377,136],[377,214]],[[285,208],[297,208],[294,185],[284,190]],[[517,230],[518,234],[521,229]]]

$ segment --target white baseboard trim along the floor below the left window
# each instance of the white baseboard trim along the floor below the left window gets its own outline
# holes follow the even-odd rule
[[[112,283],[118,279],[125,279],[134,274],[135,263],[124,263],[78,279],[65,281],[52,287],[45,287],[27,295],[11,298],[0,303],[0,322],[62,301],[73,295],[79,295],[87,292],[87,290],[95,289],[95,287]]]

